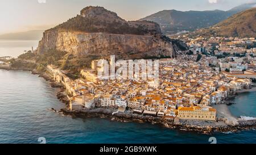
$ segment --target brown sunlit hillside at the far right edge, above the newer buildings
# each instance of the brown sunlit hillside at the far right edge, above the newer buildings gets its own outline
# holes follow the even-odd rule
[[[210,28],[198,30],[192,35],[256,37],[256,8],[242,11]]]

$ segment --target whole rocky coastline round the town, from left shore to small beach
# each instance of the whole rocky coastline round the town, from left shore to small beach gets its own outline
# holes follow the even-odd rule
[[[11,69],[11,70],[22,70],[22,69]],[[56,94],[56,97],[60,102],[65,103],[67,106],[69,99],[65,93],[65,87],[60,83],[57,83],[52,80],[46,72],[38,72],[36,70],[27,70],[31,71],[32,74],[38,74],[39,77],[44,78],[46,81],[49,81],[52,87],[60,88],[60,91]],[[255,88],[256,89],[256,88]],[[242,90],[246,91],[246,90]],[[213,106],[214,107],[214,106]],[[204,120],[180,120],[179,122],[174,122],[170,120],[165,120],[162,117],[158,116],[143,116],[138,114],[133,114],[133,111],[126,110],[125,112],[118,112],[115,108],[94,108],[92,110],[80,110],[80,111],[69,111],[65,107],[60,111],[52,109],[58,114],[64,114],[67,116],[73,116],[76,118],[108,118],[111,121],[117,122],[137,122],[137,123],[151,123],[159,124],[170,129],[179,129],[181,131],[193,131],[200,133],[213,133],[213,132],[237,132],[241,130],[248,130],[256,128],[256,120],[250,121],[240,121],[239,124],[233,124],[233,122],[227,122],[226,118],[237,119],[229,111],[228,105],[226,104],[217,104],[216,105],[218,112],[218,118],[216,122],[214,121],[204,121]],[[230,120],[229,120],[230,121]]]

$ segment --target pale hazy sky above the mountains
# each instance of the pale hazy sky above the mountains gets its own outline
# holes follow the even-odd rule
[[[229,10],[256,0],[1,0],[0,34],[47,30],[79,14],[86,6],[103,6],[126,20],[162,10]]]

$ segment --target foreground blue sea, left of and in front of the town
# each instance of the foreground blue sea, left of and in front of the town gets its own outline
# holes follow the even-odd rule
[[[72,118],[60,109],[57,90],[30,72],[0,70],[0,143],[256,143],[256,131],[203,135],[148,123],[120,123],[100,118]],[[248,95],[254,99],[254,95]],[[238,104],[237,104],[238,105]]]

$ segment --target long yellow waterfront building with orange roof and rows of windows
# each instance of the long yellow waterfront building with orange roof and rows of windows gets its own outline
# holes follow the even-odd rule
[[[216,109],[211,107],[179,107],[180,119],[216,120]]]

